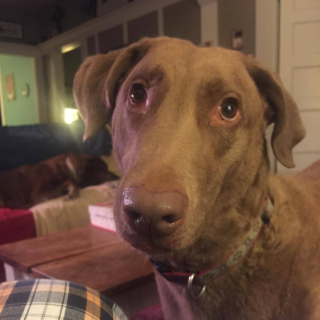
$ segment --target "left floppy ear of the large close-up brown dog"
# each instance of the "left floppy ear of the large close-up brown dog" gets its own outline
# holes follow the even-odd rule
[[[98,132],[110,120],[120,81],[146,54],[148,38],[119,50],[87,58],[73,82],[76,106],[84,119],[84,140]]]

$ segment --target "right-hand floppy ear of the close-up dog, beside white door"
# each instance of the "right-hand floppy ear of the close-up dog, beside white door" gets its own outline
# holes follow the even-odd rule
[[[293,168],[292,148],[306,134],[297,105],[275,74],[262,67],[252,56],[247,56],[245,60],[250,76],[273,112],[272,150],[281,164]]]

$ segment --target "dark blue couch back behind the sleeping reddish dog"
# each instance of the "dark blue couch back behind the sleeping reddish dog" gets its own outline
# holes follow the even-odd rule
[[[36,124],[0,127],[0,171],[36,164],[68,152],[109,155],[111,135],[106,128],[82,142],[84,124]]]

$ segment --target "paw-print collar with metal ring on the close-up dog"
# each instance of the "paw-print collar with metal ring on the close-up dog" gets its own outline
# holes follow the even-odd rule
[[[265,198],[265,203],[262,215],[255,221],[244,241],[220,265],[198,273],[188,273],[172,270],[170,266],[160,261],[151,260],[151,262],[156,270],[168,281],[187,284],[188,294],[191,298],[200,298],[208,282],[234,268],[248,254],[259,237],[263,224],[268,223],[270,220],[273,204],[268,196]],[[194,285],[200,286],[200,291],[197,295],[194,294],[192,289]]]

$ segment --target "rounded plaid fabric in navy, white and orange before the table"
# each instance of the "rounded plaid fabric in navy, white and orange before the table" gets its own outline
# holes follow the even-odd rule
[[[30,279],[0,284],[0,319],[127,320],[100,293],[61,280]]]

